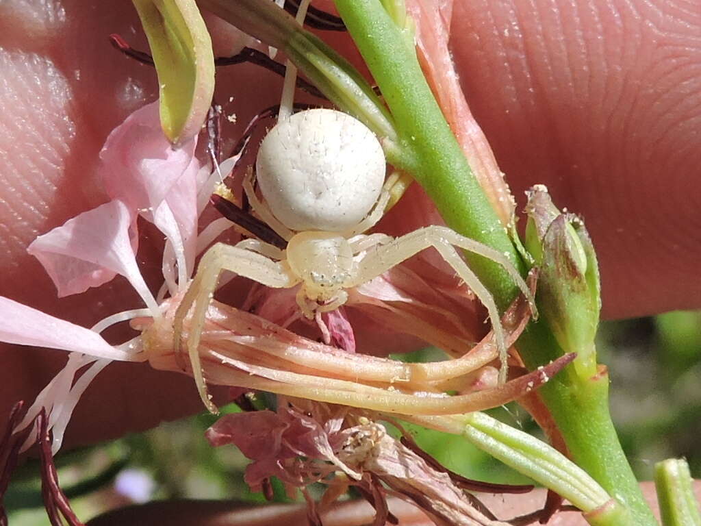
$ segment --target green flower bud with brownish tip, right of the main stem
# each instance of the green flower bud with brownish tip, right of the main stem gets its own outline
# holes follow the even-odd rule
[[[576,352],[578,373],[594,375],[599,325],[599,266],[584,223],[560,213],[543,186],[528,192],[526,248],[540,267],[538,305],[563,351]]]

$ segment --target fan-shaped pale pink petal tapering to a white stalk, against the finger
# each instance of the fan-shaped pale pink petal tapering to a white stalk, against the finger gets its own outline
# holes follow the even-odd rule
[[[60,297],[85,292],[121,274],[149,308],[158,311],[136,263],[129,236],[131,221],[124,203],[110,201],[39,236],[27,252],[39,259]]]

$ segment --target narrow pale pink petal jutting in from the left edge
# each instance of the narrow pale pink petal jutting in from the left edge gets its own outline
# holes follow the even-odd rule
[[[95,358],[133,361],[90,329],[0,296],[0,341],[83,353]]]

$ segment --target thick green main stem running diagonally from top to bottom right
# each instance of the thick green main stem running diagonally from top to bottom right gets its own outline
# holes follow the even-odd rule
[[[435,102],[414,51],[402,41],[400,29],[380,1],[336,0],[336,7],[390,107],[401,144],[416,153],[416,170],[411,175],[426,189],[449,227],[508,254],[525,271]],[[517,290],[505,271],[484,259],[471,263],[496,302],[502,308],[508,305]],[[543,322],[531,324],[518,346],[531,368],[563,354]],[[540,392],[573,459],[629,506],[638,525],[656,525],[611,423],[608,377],[580,379],[568,369]]]

